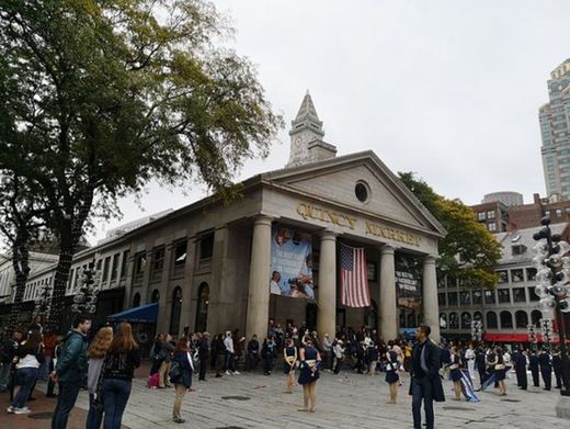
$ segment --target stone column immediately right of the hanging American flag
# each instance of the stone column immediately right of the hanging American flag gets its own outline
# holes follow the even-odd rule
[[[385,341],[398,338],[398,315],[396,306],[396,272],[394,267],[394,247],[380,247],[380,317],[378,332]]]

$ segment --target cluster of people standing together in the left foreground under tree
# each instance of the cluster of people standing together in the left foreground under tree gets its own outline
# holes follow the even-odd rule
[[[65,429],[69,414],[73,408],[79,391],[86,386],[89,391],[89,413],[86,428],[119,429],[123,413],[132,390],[135,369],[140,365],[140,353],[133,337],[129,324],[121,323],[115,331],[111,326],[101,327],[88,341],[91,320],[76,316],[72,328],[54,347],[54,354],[46,359],[50,347],[44,336],[43,327],[33,324],[26,334],[16,330],[2,345],[2,354],[10,362],[12,374],[8,384],[15,391],[9,414],[30,414],[27,402],[38,380],[41,368],[48,362],[48,397],[57,397],[52,417],[53,429]],[[45,338],[44,338],[45,337]],[[50,359],[53,358],[53,359]],[[54,386],[57,385],[57,395]]]

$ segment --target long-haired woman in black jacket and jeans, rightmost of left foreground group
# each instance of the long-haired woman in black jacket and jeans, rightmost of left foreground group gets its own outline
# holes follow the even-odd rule
[[[129,324],[122,321],[113,337],[103,362],[104,429],[121,429],[127,406],[135,368],[140,365],[140,352]]]

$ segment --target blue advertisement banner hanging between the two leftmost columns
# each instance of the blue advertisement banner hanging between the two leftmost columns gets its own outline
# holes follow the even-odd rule
[[[315,298],[310,234],[273,224],[270,291],[275,295]]]

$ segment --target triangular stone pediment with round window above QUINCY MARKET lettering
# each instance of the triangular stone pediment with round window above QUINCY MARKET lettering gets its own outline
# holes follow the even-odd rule
[[[262,178],[281,188],[363,214],[445,235],[442,225],[373,151],[276,170],[262,174]],[[364,201],[361,201],[362,193],[357,195],[357,183],[366,188]]]

